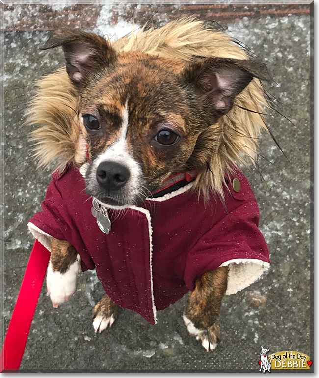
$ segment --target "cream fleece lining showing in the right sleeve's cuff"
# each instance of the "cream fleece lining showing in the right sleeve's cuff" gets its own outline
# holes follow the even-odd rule
[[[231,295],[255,282],[270,264],[259,259],[232,259],[220,266],[229,266],[226,295]]]

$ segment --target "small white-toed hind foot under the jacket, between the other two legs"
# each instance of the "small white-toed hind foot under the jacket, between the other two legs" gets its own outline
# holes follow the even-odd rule
[[[114,323],[119,306],[112,299],[105,295],[93,309],[92,318],[94,331],[101,333],[107,327],[111,327]]]

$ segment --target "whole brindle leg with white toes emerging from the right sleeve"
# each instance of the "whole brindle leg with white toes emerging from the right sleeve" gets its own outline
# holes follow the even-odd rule
[[[216,321],[227,289],[228,270],[227,266],[221,266],[205,272],[196,281],[183,316],[189,333],[201,340],[207,351],[215,350],[221,340]]]

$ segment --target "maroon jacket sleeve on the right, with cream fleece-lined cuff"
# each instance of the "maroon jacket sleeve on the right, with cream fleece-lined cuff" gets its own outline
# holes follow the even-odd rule
[[[269,252],[258,229],[259,208],[245,202],[205,233],[189,251],[184,282],[193,291],[207,270],[229,265],[226,294],[235,294],[254,282],[269,267]]]

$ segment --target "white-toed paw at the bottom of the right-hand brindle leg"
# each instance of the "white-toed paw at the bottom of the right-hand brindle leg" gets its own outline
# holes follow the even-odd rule
[[[221,341],[219,324],[215,323],[207,329],[198,329],[186,315],[183,315],[183,319],[190,335],[196,337],[196,340],[200,340],[207,352],[214,351],[217,348]]]

